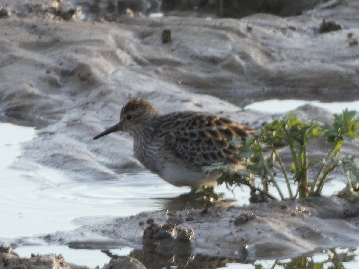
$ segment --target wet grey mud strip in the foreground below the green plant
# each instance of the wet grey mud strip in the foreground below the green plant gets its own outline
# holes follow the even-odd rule
[[[97,220],[73,231],[21,238],[12,246],[34,240],[103,251],[127,246],[134,248],[129,256],[149,268],[160,268],[171,257],[188,261],[193,255],[242,263],[310,255],[332,247],[356,246],[358,232],[358,204],[316,197],[239,208],[144,212]]]

